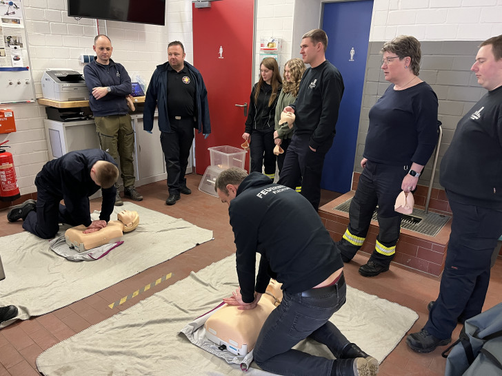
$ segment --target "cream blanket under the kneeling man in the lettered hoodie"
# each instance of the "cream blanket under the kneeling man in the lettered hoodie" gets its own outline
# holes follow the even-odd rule
[[[237,364],[194,346],[179,333],[236,286],[235,256],[230,255],[52,346],[39,355],[37,368],[43,375],[242,376]],[[417,318],[411,309],[348,288],[347,303],[331,320],[351,342],[381,362]],[[297,348],[333,358],[325,346],[313,341]],[[271,375],[253,367],[256,364],[246,375]]]

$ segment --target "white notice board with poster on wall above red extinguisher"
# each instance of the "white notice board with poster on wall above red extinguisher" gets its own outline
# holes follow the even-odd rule
[[[0,103],[35,101],[22,0],[0,0]]]

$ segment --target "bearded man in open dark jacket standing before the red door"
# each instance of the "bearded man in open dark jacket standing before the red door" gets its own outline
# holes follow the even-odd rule
[[[168,171],[169,197],[167,205],[174,205],[180,193],[191,194],[186,186],[194,129],[207,138],[211,133],[208,91],[202,75],[185,61],[185,48],[179,41],[168,45],[169,61],[157,65],[146,92],[143,129],[152,133],[155,107],[159,109],[161,145]]]

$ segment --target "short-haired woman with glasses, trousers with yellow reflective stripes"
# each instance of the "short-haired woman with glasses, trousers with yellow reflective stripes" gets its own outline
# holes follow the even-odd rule
[[[349,225],[337,243],[344,262],[363,245],[378,205],[379,234],[368,263],[359,268],[365,277],[389,270],[401,228],[394,203],[401,192],[416,189],[423,167],[437,141],[437,96],[419,78],[420,42],[401,35],[381,49],[381,70],[391,85],[370,109],[370,127],[357,190],[349,209]]]

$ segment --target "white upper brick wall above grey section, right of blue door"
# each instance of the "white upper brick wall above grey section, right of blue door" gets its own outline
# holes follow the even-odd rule
[[[476,41],[501,34],[502,0],[374,0],[370,41]]]

